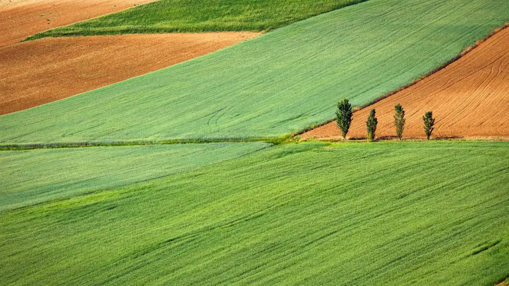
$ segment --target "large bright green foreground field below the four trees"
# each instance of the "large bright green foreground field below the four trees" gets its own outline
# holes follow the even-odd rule
[[[0,213],[0,284],[494,285],[507,142],[280,145]]]

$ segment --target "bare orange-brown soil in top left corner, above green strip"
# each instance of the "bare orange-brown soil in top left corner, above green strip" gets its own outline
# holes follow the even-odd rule
[[[155,0],[0,0],[0,46]]]

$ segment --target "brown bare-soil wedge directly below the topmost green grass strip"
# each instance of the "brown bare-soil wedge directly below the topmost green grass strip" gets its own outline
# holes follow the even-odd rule
[[[104,87],[258,35],[65,37],[0,47],[0,115]]]

